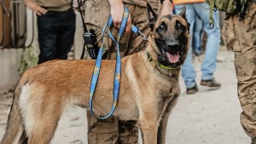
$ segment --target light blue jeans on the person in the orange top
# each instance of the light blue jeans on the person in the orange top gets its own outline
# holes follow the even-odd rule
[[[213,77],[213,72],[216,70],[216,62],[218,55],[218,47],[220,43],[220,29],[218,20],[218,11],[213,11],[214,28],[209,27],[209,13],[210,7],[207,3],[189,3],[189,4],[179,4],[174,7],[175,14],[179,14],[183,9],[183,5],[186,6],[186,17],[190,24],[190,36],[193,36],[193,27],[195,25],[196,15],[203,20],[204,30],[207,32],[207,45],[205,58],[201,65],[202,76],[201,79],[209,80]],[[190,48],[187,55],[187,59],[184,61],[182,67],[182,76],[185,81],[187,88],[192,88],[195,86],[195,70],[192,64],[192,54],[191,54],[191,43],[193,37],[190,39]]]

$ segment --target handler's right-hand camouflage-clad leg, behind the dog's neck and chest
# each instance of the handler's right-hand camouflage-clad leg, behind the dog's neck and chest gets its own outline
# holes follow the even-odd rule
[[[149,35],[150,28],[147,16],[147,9],[131,4],[126,4],[132,17],[132,24],[139,27],[146,36]],[[143,37],[131,33],[130,36],[121,38],[120,42],[123,46],[124,55],[131,55],[146,48],[146,41]],[[118,143],[131,144],[138,143],[138,128],[135,121],[120,121],[119,120],[119,136]]]

